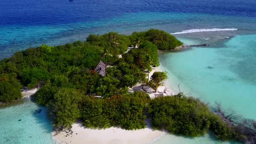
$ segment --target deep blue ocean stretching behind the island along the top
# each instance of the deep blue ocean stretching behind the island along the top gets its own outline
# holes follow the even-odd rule
[[[256,27],[255,7],[255,0],[2,0],[0,59],[42,43],[109,31],[240,28],[250,33]]]

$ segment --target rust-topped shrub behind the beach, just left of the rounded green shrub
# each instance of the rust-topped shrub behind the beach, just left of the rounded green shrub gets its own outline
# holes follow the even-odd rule
[[[105,99],[106,113],[111,125],[126,130],[145,128],[145,103],[142,98],[131,95],[116,95]]]

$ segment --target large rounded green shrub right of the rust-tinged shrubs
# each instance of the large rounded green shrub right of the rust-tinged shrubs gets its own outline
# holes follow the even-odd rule
[[[210,126],[209,109],[194,98],[160,96],[149,103],[152,126],[172,134],[196,137]]]

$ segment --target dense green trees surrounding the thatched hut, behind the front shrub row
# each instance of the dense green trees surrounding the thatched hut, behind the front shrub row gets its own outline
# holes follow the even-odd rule
[[[139,49],[125,53],[128,46],[135,43]],[[47,93],[47,89],[56,90],[61,87],[105,97],[122,94],[127,91],[127,87],[145,81],[144,70],[159,65],[158,49],[163,49],[163,46],[164,49],[173,49],[178,46],[177,43],[182,44],[164,31],[150,29],[131,36],[115,32],[101,36],[89,35],[86,42],[77,41],[61,46],[43,44],[16,52],[11,58],[0,62],[0,102],[7,103],[21,98],[21,85],[28,88],[46,85],[35,96],[36,102],[44,105],[54,94]],[[119,55],[123,58],[119,58]],[[113,66],[107,70],[108,77],[102,78],[91,72],[99,60]],[[43,98],[46,93],[47,98]]]

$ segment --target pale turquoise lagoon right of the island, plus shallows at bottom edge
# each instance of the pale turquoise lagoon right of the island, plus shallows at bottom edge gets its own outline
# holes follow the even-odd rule
[[[201,39],[179,38],[185,44]],[[212,41],[209,39],[209,41]],[[210,43],[210,42],[209,42]],[[256,35],[235,36],[218,47],[194,47],[160,56],[161,69],[169,72],[168,83],[178,92],[200,98],[209,105],[220,102],[223,109],[256,119]],[[153,144],[218,144],[212,134],[186,138],[164,135]],[[225,142],[235,143],[235,142]]]

